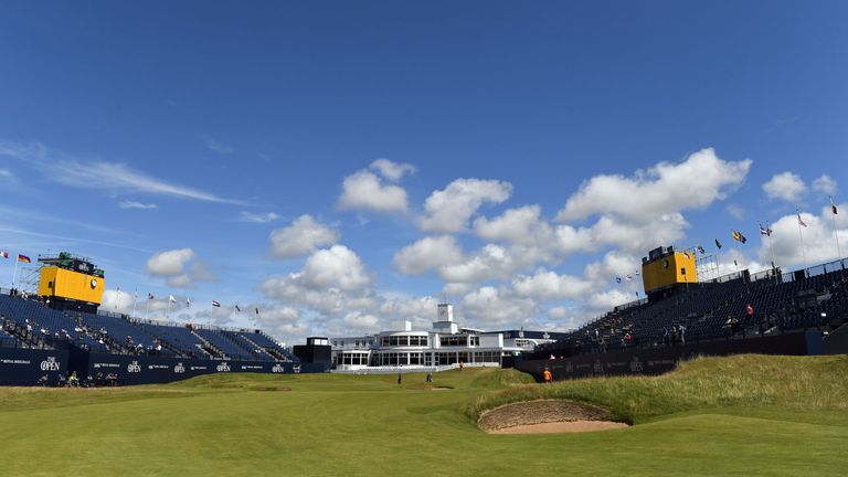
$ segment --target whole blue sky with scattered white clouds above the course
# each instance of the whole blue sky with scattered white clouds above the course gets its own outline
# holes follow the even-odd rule
[[[573,329],[660,245],[718,239],[713,276],[848,250],[841,1],[0,9],[4,288],[67,251],[102,309],[295,344],[443,300]]]

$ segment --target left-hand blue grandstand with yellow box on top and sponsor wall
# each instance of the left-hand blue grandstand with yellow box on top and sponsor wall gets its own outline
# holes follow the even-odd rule
[[[99,310],[104,271],[63,252],[39,257],[36,293],[0,289],[0,384],[141,384],[210,372],[324,372],[261,330],[140,320]],[[329,347],[327,347],[329,348]],[[329,351],[327,351],[329,353]]]

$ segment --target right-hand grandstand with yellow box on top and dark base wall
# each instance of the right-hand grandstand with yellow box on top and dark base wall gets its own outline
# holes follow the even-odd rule
[[[516,368],[554,379],[657,374],[699,354],[820,354],[848,351],[848,259],[792,273],[749,271],[698,280],[676,273],[679,256],[660,247],[643,259],[648,298],[617,306]],[[659,264],[659,265],[657,265]],[[650,267],[668,271],[665,277]]]

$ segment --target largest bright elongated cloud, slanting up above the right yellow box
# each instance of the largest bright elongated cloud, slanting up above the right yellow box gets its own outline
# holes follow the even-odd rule
[[[566,222],[615,213],[645,221],[685,209],[703,209],[716,200],[723,200],[741,184],[751,163],[750,159],[724,161],[708,148],[680,163],[660,162],[646,171],[636,171],[632,178],[595,176],[569,198],[556,220]]]

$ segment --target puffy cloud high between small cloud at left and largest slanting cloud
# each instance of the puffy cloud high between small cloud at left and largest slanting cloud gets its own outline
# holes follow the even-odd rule
[[[444,190],[434,191],[424,202],[425,215],[418,226],[426,232],[455,233],[486,202],[501,203],[512,193],[512,184],[497,180],[457,179]]]

